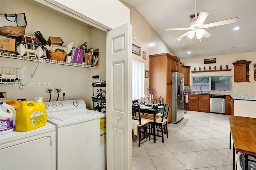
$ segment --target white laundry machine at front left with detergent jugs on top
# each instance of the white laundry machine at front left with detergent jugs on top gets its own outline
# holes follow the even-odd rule
[[[0,135],[0,170],[55,170],[55,126]]]

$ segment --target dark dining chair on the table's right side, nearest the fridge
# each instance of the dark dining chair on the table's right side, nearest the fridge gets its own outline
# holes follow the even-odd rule
[[[155,133],[156,136],[162,137],[162,142],[164,143],[164,133],[166,134],[166,137],[168,138],[168,123],[167,123],[167,117],[168,117],[168,113],[169,113],[169,109],[170,109],[170,104],[165,104],[164,105],[164,111],[163,111],[163,115],[162,117],[157,117],[156,116],[156,131],[152,132]],[[151,121],[151,129],[154,125],[154,117],[150,117],[147,120]],[[161,135],[159,134],[159,132],[161,132]]]

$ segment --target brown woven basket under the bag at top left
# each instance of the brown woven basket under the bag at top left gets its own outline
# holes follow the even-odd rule
[[[0,34],[9,37],[19,37],[25,35],[26,26],[4,26],[0,27]]]

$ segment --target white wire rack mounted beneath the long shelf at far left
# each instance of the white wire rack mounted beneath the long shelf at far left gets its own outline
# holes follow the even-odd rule
[[[26,77],[24,66],[20,68],[0,67],[0,83],[21,83],[24,77]]]

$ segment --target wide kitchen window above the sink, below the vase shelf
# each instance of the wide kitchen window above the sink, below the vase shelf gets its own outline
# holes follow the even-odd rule
[[[192,77],[192,91],[232,91],[232,76]]]

